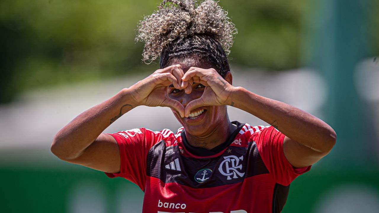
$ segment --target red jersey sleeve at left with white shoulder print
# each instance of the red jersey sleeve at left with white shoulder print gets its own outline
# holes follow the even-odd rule
[[[110,177],[123,177],[145,190],[146,157],[150,148],[159,140],[157,135],[145,128],[109,134],[116,139],[120,151],[120,172],[107,173]]]

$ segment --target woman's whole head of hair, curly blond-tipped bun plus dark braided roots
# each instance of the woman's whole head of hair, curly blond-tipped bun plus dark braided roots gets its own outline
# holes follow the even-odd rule
[[[157,11],[139,22],[136,41],[145,43],[145,63],[160,57],[164,68],[174,58],[197,56],[224,77],[236,33],[227,11],[213,0],[163,0]]]

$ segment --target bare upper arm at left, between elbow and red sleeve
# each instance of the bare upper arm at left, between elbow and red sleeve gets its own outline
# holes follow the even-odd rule
[[[77,158],[66,160],[103,172],[117,173],[120,171],[120,151],[116,139],[102,133]]]

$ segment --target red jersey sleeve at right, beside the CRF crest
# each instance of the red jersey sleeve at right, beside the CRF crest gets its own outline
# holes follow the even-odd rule
[[[283,152],[285,135],[273,126],[265,127],[252,135],[258,152],[274,180],[284,186],[289,185],[296,177],[309,171],[311,166],[294,168]]]

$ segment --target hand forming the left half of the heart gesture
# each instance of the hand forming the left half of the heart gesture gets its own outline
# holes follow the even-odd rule
[[[131,86],[132,97],[138,105],[149,107],[170,107],[176,110],[180,116],[184,116],[184,107],[177,101],[167,96],[167,86],[174,85],[176,89],[182,85],[184,72],[180,64],[175,64],[164,69],[158,69],[147,78],[138,81]]]

